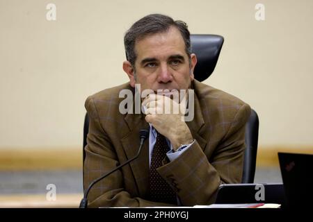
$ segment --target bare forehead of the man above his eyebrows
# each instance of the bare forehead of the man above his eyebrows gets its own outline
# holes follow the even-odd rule
[[[137,61],[144,58],[167,58],[174,54],[186,56],[184,39],[175,27],[170,27],[166,32],[147,35],[137,40],[135,51]]]

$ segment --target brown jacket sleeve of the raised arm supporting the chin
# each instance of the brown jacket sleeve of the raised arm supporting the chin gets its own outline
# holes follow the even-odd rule
[[[215,202],[221,183],[241,182],[245,149],[245,126],[250,107],[241,105],[213,155],[207,157],[198,142],[172,162],[157,169],[177,192],[182,205],[209,205]]]

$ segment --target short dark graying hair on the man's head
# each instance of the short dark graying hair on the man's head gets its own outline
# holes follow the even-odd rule
[[[190,58],[191,42],[187,24],[179,20],[174,21],[171,17],[168,17],[167,15],[152,14],[147,15],[135,22],[126,32],[124,37],[126,58],[131,63],[134,69],[135,61],[137,58],[135,52],[136,40],[141,40],[147,35],[166,32],[172,26],[176,27],[182,34],[185,42],[185,50],[188,58]]]

